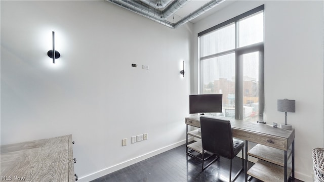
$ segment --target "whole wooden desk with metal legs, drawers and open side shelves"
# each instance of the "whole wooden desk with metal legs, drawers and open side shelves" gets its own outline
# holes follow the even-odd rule
[[[199,134],[199,132],[196,131],[188,131],[188,125],[200,128],[200,116],[202,115],[186,117],[185,123],[187,124],[187,134],[190,132]],[[290,174],[292,174],[294,180],[295,129],[286,130],[274,128],[267,124],[252,123],[235,119],[229,120],[232,126],[233,137],[246,141],[246,159],[248,159],[248,155],[259,158],[258,162],[252,166],[248,172],[246,172],[246,181],[248,180],[248,174],[263,181],[285,182],[288,181]],[[194,134],[190,135],[194,136]],[[254,142],[259,145],[248,151],[248,142]],[[292,159],[291,168],[288,167],[289,157]],[[247,169],[247,167],[248,163],[246,160],[245,168]],[[270,171],[272,171],[272,173],[268,171],[269,169],[271,169]]]

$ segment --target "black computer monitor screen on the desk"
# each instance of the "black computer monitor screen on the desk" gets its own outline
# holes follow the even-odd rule
[[[222,94],[189,95],[189,114],[221,113]]]

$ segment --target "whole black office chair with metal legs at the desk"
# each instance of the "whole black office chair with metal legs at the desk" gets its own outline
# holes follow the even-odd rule
[[[242,169],[244,169],[244,141],[233,139],[231,123],[227,120],[200,117],[200,127],[203,151],[206,150],[220,157],[230,159],[229,181],[234,181]],[[234,179],[231,180],[232,159],[239,153],[240,150],[242,150],[242,167],[235,174]],[[204,167],[204,152],[202,157],[203,165],[201,167],[201,171],[209,166],[207,165]]]

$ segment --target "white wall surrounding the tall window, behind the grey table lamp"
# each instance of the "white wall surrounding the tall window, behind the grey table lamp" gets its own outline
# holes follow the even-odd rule
[[[239,1],[194,24],[194,68],[197,33],[265,5],[266,122],[285,122],[278,99],[296,100],[288,113],[295,128],[295,176],[313,180],[312,154],[323,147],[323,1]],[[195,70],[193,69],[193,70]],[[197,71],[192,77],[197,78]],[[191,90],[197,92],[197,79]]]

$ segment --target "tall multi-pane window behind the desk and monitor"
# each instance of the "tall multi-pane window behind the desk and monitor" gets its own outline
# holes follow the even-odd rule
[[[222,117],[263,120],[264,5],[198,33],[199,92],[223,94]]]

